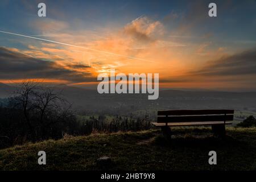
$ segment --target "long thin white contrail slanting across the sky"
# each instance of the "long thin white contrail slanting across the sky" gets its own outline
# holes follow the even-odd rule
[[[90,51],[97,51],[97,52],[106,53],[106,54],[109,54],[109,55],[127,57],[127,58],[130,58],[130,59],[137,59],[137,60],[142,60],[142,61],[148,61],[148,62],[151,62],[151,63],[155,63],[155,61],[150,61],[150,60],[146,60],[146,59],[141,59],[141,58],[138,58],[138,57],[119,55],[119,54],[113,53],[113,52],[101,51],[101,50],[92,49],[92,48],[88,48],[88,47],[75,46],[75,45],[72,45],[72,44],[67,44],[67,43],[62,43],[62,42],[56,42],[56,41],[53,41],[53,40],[35,38],[34,36],[27,36],[27,35],[22,35],[22,34],[15,34],[15,33],[5,32],[5,31],[0,31],[0,32],[3,33],[3,34],[11,34],[11,35],[23,36],[23,37],[25,37],[25,38],[31,38],[31,39],[36,39],[36,40],[43,40],[43,41],[46,41],[46,42],[51,42],[51,43],[56,43],[56,44],[62,44],[62,45],[65,45],[65,46],[72,46],[72,47],[77,47],[77,48],[81,48],[81,49],[88,49],[88,50],[90,50]]]

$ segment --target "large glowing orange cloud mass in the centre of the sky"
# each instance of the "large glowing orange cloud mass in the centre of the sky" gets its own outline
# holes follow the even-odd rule
[[[160,79],[169,80],[162,85],[191,85],[193,81],[182,81],[188,76],[189,71],[203,65],[209,57],[217,59],[224,54],[222,48],[209,47],[210,42],[192,43],[177,39],[175,35],[179,34],[170,35],[162,22],[146,16],[127,23],[123,28],[102,29],[95,32],[72,30],[67,23],[51,19],[41,23],[34,25],[42,31],[43,36],[51,36],[48,39],[112,52],[116,55],[38,41],[30,42],[27,50],[16,51],[37,59],[54,61],[56,67],[75,71],[77,74],[89,73],[94,77],[97,77],[98,73],[109,72],[114,68],[117,73],[159,73]],[[151,62],[125,56],[138,57]],[[195,78],[195,80],[200,79]],[[178,81],[173,82],[173,80]]]

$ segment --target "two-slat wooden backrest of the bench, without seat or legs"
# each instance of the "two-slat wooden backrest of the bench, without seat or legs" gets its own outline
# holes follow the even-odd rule
[[[233,121],[234,110],[163,110],[158,111],[158,123]]]

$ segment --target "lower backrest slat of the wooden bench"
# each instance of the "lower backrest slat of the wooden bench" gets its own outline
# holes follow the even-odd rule
[[[207,121],[233,121],[233,115],[191,115],[158,117],[158,123],[166,122],[207,122]]]

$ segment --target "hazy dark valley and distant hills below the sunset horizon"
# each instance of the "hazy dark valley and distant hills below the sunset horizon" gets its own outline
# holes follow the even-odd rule
[[[8,97],[15,86],[0,84],[0,98]],[[217,92],[161,90],[158,100],[147,94],[99,94],[97,90],[55,85],[77,111],[124,114],[141,110],[161,109],[236,109],[256,111],[256,92]]]

